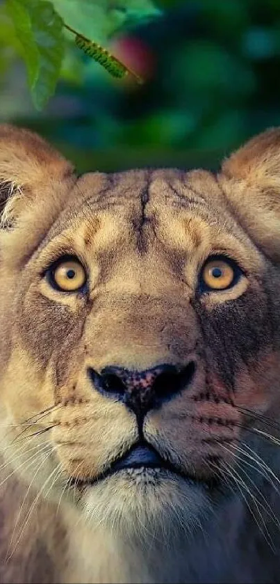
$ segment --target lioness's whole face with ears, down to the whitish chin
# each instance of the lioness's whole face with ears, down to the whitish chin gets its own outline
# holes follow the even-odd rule
[[[276,182],[253,180],[279,134],[217,177],[79,179],[1,136],[5,456],[95,523],[193,523],[279,415]]]

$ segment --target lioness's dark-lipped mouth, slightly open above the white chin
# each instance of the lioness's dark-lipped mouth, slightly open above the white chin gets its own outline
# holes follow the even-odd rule
[[[201,484],[207,489],[213,489],[216,486],[217,481],[211,478],[211,480],[206,480],[197,475],[190,475],[183,473],[181,469],[176,467],[171,461],[163,459],[155,448],[146,443],[145,441],[139,441],[127,452],[122,455],[122,457],[113,461],[112,464],[104,471],[99,474],[96,478],[87,478],[76,480],[73,478],[75,487],[85,487],[87,485],[94,485],[101,480],[104,480],[110,475],[115,475],[119,472],[127,471],[131,476],[133,471],[138,470],[138,477],[140,471],[147,473],[154,470],[154,472],[160,473],[160,471],[169,471],[173,475],[177,475],[183,480],[187,481],[189,484]]]

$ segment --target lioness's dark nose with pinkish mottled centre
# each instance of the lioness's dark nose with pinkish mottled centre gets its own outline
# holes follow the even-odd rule
[[[99,374],[89,369],[92,384],[99,393],[124,402],[140,417],[185,389],[194,373],[194,361],[180,370],[165,363],[145,371],[106,367]]]

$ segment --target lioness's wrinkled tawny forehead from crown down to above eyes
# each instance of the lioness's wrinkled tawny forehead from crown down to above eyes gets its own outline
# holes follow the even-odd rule
[[[49,232],[48,242],[65,232],[94,248],[130,244],[133,233],[145,248],[154,236],[165,246],[189,251],[219,232],[244,234],[228,212],[215,177],[206,171],[174,169],[88,173],[76,183]],[[221,242],[217,242],[219,245]]]

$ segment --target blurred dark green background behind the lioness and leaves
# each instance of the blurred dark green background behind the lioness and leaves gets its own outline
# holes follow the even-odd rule
[[[100,22],[81,15],[79,1],[67,2],[68,24],[79,29],[83,16],[91,38],[145,84],[116,81],[67,38],[56,93],[37,111],[0,6],[0,121],[40,132],[79,172],[215,170],[249,136],[280,125],[279,0],[139,0],[138,7],[107,0]]]

